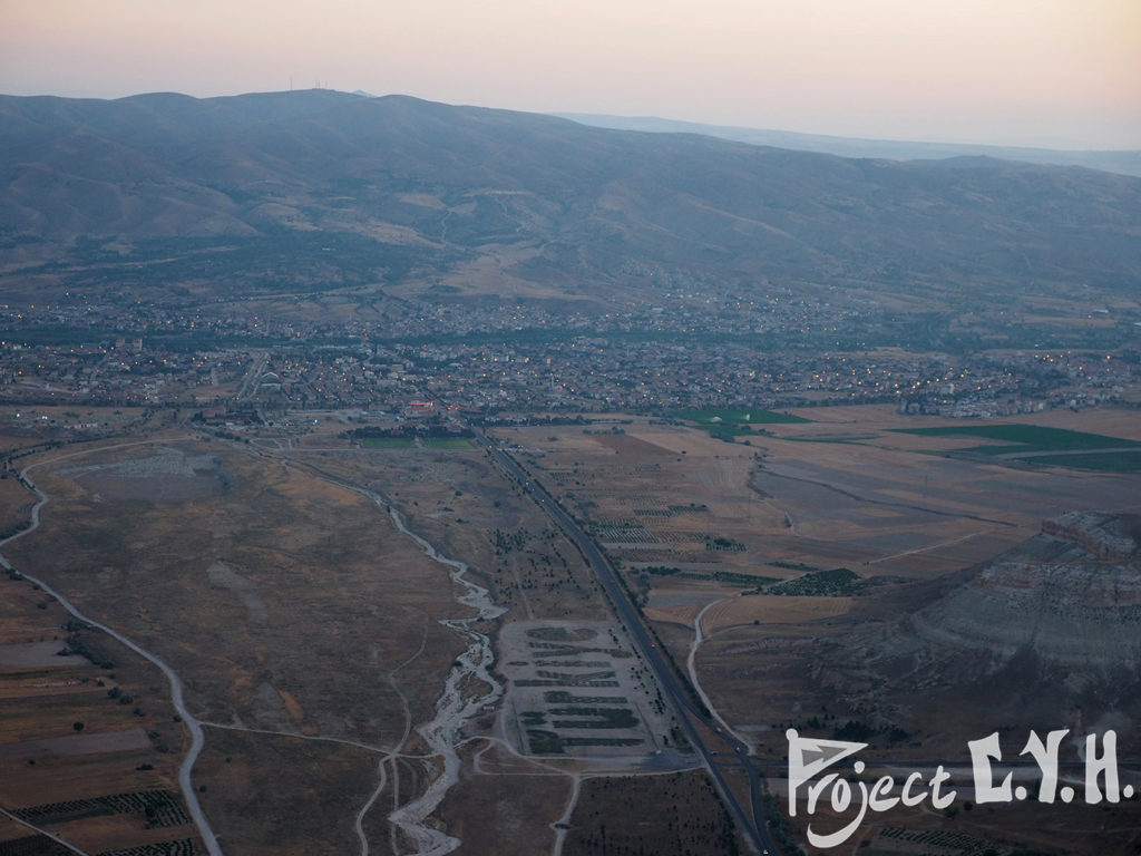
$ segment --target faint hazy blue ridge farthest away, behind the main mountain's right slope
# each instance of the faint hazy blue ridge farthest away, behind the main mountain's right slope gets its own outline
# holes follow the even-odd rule
[[[1141,150],[1061,150],[1029,146],[990,146],[970,143],[923,143],[915,140],[863,139],[823,134],[799,134],[761,128],[739,128],[699,122],[679,122],[655,116],[610,116],[597,113],[556,113],[563,119],[594,128],[613,128],[653,134],[703,134],[756,146],[776,146],[798,152],[820,152],[842,158],[883,158],[893,161],[940,160],[985,156],[1059,167],[1087,167],[1123,176],[1141,176]]]

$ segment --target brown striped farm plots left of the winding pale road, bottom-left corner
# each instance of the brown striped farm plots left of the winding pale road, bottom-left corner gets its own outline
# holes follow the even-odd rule
[[[16,575],[0,578],[0,805],[17,818],[0,851],[54,853],[38,830],[88,853],[201,847],[163,676]]]

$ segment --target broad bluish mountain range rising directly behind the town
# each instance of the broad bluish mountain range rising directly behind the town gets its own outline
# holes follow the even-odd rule
[[[8,293],[381,283],[605,305],[776,283],[957,309],[998,291],[1135,296],[1141,180],[330,90],[6,96],[0,248]]]

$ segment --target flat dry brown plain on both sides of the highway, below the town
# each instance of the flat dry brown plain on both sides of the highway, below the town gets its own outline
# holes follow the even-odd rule
[[[63,419],[50,409],[42,415],[41,423]],[[625,414],[585,429],[492,431],[605,548],[674,667],[752,745],[778,797],[784,728],[832,736],[876,706],[867,687],[828,685],[812,672],[822,644],[917,608],[1034,535],[1043,518],[1136,510],[1141,495],[1135,473],[954,457],[979,439],[897,430],[961,421],[885,406],[799,415],[808,421],[746,426],[731,443],[693,423]],[[1132,411],[1020,421],[1141,441]],[[670,745],[670,718],[654,711],[640,667],[616,670],[618,686],[606,689],[527,688],[551,680],[552,670],[564,684],[589,684],[617,662],[592,647],[632,647],[555,523],[472,444],[372,449],[347,439],[335,413],[311,422],[301,439],[272,428],[226,439],[159,412],[126,436],[62,445],[46,441],[58,428],[54,435],[40,425],[13,438],[0,479],[0,520],[16,535],[0,550],[13,565],[181,676],[207,736],[194,785],[226,853],[334,854],[362,841],[370,853],[415,849],[394,813],[415,803],[443,768],[419,729],[472,644],[442,620],[470,620],[475,609],[394,512],[462,560],[467,579],[501,609],[468,625],[495,660],[486,680],[464,677],[459,692],[487,701],[462,721],[455,782],[427,829],[446,831],[459,839],[456,853],[470,854],[591,853],[604,842],[637,853],[638,841],[661,851],[738,851],[707,780],[685,772],[695,757]],[[41,525],[23,531],[38,499],[17,478],[29,466],[50,502]],[[13,592],[0,622],[0,693],[16,711],[0,721],[0,765],[18,769],[5,777],[18,793],[0,793],[3,807],[143,790],[177,801],[186,741],[161,675],[95,631],[79,638],[113,669],[56,657],[44,646],[68,635],[59,605],[26,580],[0,584]],[[588,629],[608,644],[575,636]],[[532,643],[555,645],[551,661]],[[60,663],[48,665],[49,656]],[[132,703],[108,698],[115,687]],[[589,703],[574,697],[584,692]],[[606,695],[621,697],[624,706],[614,704],[626,712],[599,713],[613,702],[598,701]],[[877,758],[900,765],[962,761],[965,741],[996,726],[970,700],[946,709],[916,698],[876,713],[890,713],[908,735],[868,740]],[[547,730],[541,725],[556,718],[557,740],[528,738],[528,728]],[[96,751],[100,734],[120,736]],[[70,742],[42,742],[60,737]],[[55,754],[30,765],[30,741]],[[1135,765],[1138,736],[1125,729],[1122,745],[1123,761]],[[670,810],[615,811],[623,800]],[[1084,806],[896,811],[861,829],[853,847],[906,853],[909,835],[931,832],[950,837],[940,839],[952,842],[948,856],[990,843],[1050,851],[1047,840],[1055,853],[1132,853],[1136,802],[1111,810],[1104,834],[1092,838],[1091,818],[1101,815]],[[185,821],[147,829],[131,817],[57,816],[46,829],[90,853],[197,841]],[[15,822],[0,829],[3,840],[34,834]],[[1118,840],[1124,849],[1109,848]]]

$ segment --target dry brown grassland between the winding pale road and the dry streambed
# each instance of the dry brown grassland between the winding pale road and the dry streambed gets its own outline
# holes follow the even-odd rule
[[[37,566],[80,608],[171,662],[205,719],[397,737],[402,705],[387,672],[426,632],[426,684],[459,649],[435,622],[454,608],[444,568],[364,496],[220,445],[188,449],[217,457],[227,493],[171,508],[145,499],[154,479],[140,476],[139,499],[110,502],[94,476],[84,486],[41,469],[37,481],[52,502],[41,530],[14,546],[17,564]],[[43,542],[55,549],[38,550]],[[410,692],[422,717],[434,688]]]

